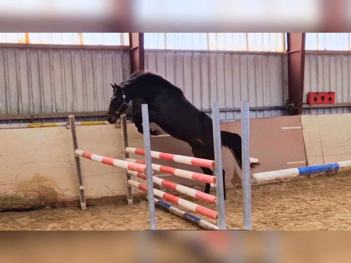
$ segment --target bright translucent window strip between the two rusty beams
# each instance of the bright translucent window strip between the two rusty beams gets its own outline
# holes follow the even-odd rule
[[[145,49],[283,52],[284,33],[144,33]]]

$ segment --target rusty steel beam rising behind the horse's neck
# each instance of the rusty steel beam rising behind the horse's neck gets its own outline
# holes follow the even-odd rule
[[[145,69],[144,33],[129,33],[131,74],[136,70]],[[141,111],[143,100],[133,99],[133,113]]]

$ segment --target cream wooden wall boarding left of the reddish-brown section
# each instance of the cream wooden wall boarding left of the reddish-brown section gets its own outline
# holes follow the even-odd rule
[[[127,124],[131,147],[143,148],[143,135]],[[124,159],[121,128],[77,126],[78,147]],[[80,158],[87,198],[125,196],[125,170]],[[0,207],[78,199],[71,129],[46,127],[0,130]],[[141,179],[140,179],[141,180]],[[137,179],[138,181],[138,179]],[[140,190],[133,189],[134,192]]]

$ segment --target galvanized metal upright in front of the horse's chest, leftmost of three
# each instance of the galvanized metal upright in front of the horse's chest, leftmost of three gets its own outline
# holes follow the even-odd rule
[[[153,193],[152,180],[152,161],[151,161],[151,141],[150,141],[150,124],[147,104],[141,104],[141,114],[143,116],[143,133],[144,133],[144,149],[147,176],[147,196],[149,204],[150,228],[156,230],[155,200]]]

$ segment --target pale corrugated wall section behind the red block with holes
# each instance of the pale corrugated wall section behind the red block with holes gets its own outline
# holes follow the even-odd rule
[[[335,102],[351,102],[351,55],[306,54],[304,103],[308,92],[336,92]]]

